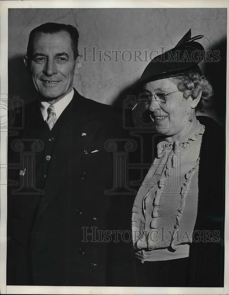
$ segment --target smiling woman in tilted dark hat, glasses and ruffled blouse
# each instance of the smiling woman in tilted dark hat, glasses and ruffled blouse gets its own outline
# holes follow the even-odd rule
[[[223,286],[225,142],[216,122],[196,117],[212,96],[202,37],[187,32],[138,83],[134,112],[144,105],[163,139],[133,206],[137,286]]]

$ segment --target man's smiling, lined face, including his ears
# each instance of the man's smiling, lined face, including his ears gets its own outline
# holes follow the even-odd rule
[[[30,63],[25,56],[25,64],[32,74],[35,88],[49,102],[57,102],[72,90],[74,73],[79,70],[78,63],[79,57],[77,60],[73,58],[67,32],[37,33]]]

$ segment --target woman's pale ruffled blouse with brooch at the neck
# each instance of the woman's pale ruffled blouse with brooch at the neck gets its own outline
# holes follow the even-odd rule
[[[144,249],[148,253],[171,248],[174,251],[178,245],[192,242],[204,130],[197,121],[182,139],[161,141],[157,145],[158,156],[134,201],[132,234],[135,250]]]

